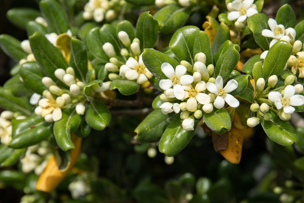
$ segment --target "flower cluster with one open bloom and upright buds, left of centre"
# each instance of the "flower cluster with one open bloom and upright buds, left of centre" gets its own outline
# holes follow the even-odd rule
[[[116,52],[111,43],[107,42],[102,46],[103,51],[110,58],[109,63],[105,64],[105,68],[108,71],[113,72],[109,74],[109,79],[115,80],[126,78],[128,80],[136,80],[138,84],[147,82],[153,75],[143,64],[139,39],[135,38],[131,43],[129,35],[125,31],[120,31],[118,33],[118,38],[124,46],[130,48],[131,53],[129,53],[126,48],[121,49],[121,55],[124,58],[129,57],[126,60],[126,64],[124,64],[116,58]],[[115,74],[115,72],[119,72],[119,75]]]

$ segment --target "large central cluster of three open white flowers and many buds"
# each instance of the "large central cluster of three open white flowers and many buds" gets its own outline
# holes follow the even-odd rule
[[[164,90],[160,98],[165,101],[160,108],[164,114],[173,111],[178,114],[181,110],[180,117],[184,120],[182,122],[184,130],[194,130],[194,117],[201,118],[202,110],[205,113],[211,113],[213,106],[218,109],[223,108],[225,101],[234,108],[240,104],[236,98],[228,94],[237,89],[237,81],[232,79],[223,88],[223,78],[221,76],[216,79],[210,78],[214,72],[214,66],[210,64],[206,67],[205,63],[204,53],[195,55],[194,67],[186,61],[181,61],[181,64],[189,69],[193,68],[193,76],[186,74],[187,68],[184,65],[176,66],[175,70],[169,63],[161,65],[161,70],[168,79],[162,79],[159,83],[161,89]]]

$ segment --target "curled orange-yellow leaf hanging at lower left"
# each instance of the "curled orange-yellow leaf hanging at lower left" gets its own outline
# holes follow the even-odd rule
[[[74,164],[76,163],[80,148],[81,148],[81,138],[73,134],[71,139],[75,145],[75,149],[71,149],[71,163],[67,170],[61,172],[58,168],[58,164],[55,156],[51,156],[49,162],[47,163],[46,168],[41,173],[37,183],[36,189],[44,192],[53,191],[61,181],[67,176],[67,174],[71,171]]]

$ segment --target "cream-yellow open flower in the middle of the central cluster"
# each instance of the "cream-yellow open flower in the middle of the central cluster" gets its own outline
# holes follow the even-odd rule
[[[198,82],[195,88],[191,85],[183,85],[182,87],[185,89],[184,99],[189,98],[186,105],[188,111],[195,112],[197,110],[197,102],[200,104],[210,103],[210,96],[201,93],[206,90],[206,83],[204,81]]]

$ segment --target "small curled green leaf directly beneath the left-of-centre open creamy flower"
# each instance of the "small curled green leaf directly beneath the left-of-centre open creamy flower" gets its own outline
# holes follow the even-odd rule
[[[114,80],[110,89],[118,89],[123,95],[131,95],[137,92],[140,85],[130,80]]]

